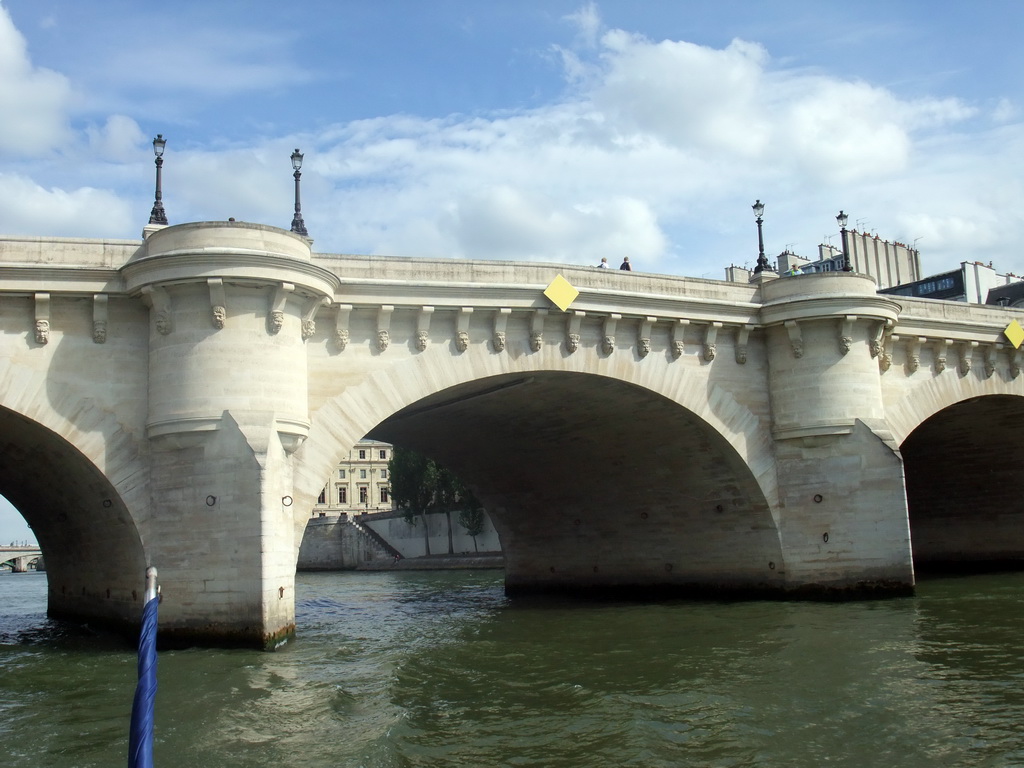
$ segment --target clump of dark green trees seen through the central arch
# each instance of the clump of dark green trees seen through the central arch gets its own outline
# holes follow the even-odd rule
[[[449,554],[455,554],[452,532],[452,512],[479,508],[476,500],[465,483],[451,471],[415,451],[394,446],[388,462],[391,496],[395,506],[404,512],[408,521],[414,522],[416,515],[423,520],[423,536],[426,553],[430,554],[427,531],[427,515],[443,512],[447,520]],[[481,511],[482,516],[482,511]],[[460,521],[461,521],[460,516]],[[482,522],[480,523],[482,525]],[[469,530],[468,526],[467,531]],[[476,534],[480,531],[477,530]],[[473,546],[476,546],[476,535]]]

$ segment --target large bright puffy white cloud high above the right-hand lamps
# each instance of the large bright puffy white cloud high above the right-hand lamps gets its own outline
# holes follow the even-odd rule
[[[589,97],[623,134],[821,181],[902,171],[914,130],[973,114],[955,99],[900,101],[866,83],[773,69],[742,40],[718,50],[612,30],[602,44]]]

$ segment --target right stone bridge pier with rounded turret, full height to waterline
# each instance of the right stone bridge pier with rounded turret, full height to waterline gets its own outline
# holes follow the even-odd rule
[[[764,284],[787,590],[913,586],[903,462],[885,422],[878,347],[899,306],[866,275]]]

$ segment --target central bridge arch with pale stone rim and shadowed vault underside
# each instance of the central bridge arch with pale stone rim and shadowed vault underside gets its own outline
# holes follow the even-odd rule
[[[673,365],[556,344],[461,356],[438,345],[325,401],[296,486],[311,501],[368,435],[433,456],[474,488],[510,590],[777,586],[767,431],[703,369],[680,377]]]

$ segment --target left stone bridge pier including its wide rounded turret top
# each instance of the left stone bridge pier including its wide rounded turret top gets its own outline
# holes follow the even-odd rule
[[[206,222],[156,231],[124,268],[151,315],[141,522],[165,638],[271,648],[294,634],[305,340],[337,284],[309,256],[291,232]]]

